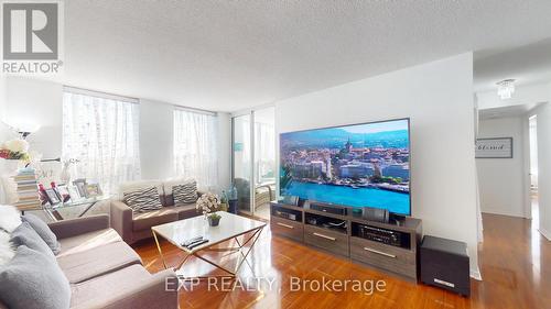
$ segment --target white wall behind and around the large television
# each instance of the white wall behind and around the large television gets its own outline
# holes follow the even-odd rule
[[[476,275],[472,53],[276,103],[278,133],[408,117],[412,217],[424,234],[466,242]]]

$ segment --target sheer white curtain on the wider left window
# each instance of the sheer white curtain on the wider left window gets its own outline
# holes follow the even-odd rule
[[[72,179],[97,180],[107,194],[140,178],[139,104],[94,92],[63,93],[63,159]]]

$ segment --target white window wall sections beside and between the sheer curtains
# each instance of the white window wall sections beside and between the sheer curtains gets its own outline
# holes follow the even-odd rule
[[[60,157],[62,155],[63,86],[40,79],[8,77],[6,95],[3,119],[8,122],[39,124],[40,130],[29,137],[31,148],[42,153],[44,158]],[[140,100],[140,159],[143,179],[175,176],[172,111],[172,104]],[[218,179],[220,188],[227,188],[230,178],[231,130],[229,114],[218,113]]]

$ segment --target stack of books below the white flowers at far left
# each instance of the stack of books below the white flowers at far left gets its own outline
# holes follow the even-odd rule
[[[19,200],[13,205],[19,210],[42,209],[40,201],[39,185],[36,174],[32,168],[22,168],[13,176],[13,181],[18,185],[17,195]]]

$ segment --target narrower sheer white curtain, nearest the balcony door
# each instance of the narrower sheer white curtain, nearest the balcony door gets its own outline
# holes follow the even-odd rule
[[[179,176],[197,180],[202,189],[218,183],[216,115],[174,110],[174,165]]]

